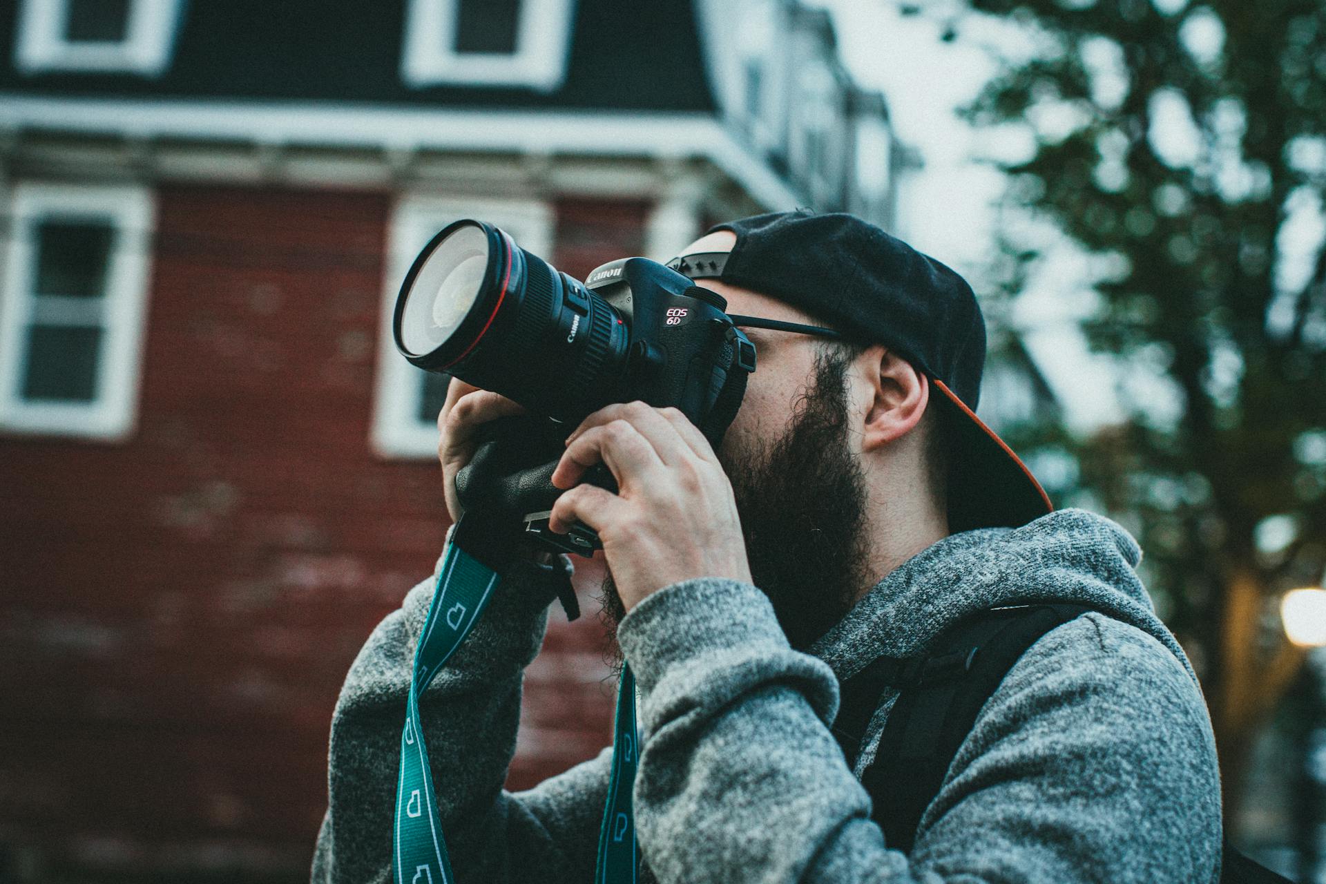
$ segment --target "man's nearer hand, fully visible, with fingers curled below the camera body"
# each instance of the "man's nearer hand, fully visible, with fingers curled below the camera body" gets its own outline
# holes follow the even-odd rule
[[[599,461],[617,477],[617,494],[575,485]],[[549,527],[565,533],[579,520],[598,531],[627,611],[679,580],[751,582],[732,485],[676,408],[633,402],[595,411],[566,440],[553,485],[570,490],[553,505]]]

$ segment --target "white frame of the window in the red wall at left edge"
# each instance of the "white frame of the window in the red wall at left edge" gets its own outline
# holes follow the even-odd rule
[[[0,292],[0,431],[123,440],[138,411],[155,205],[142,187],[20,183],[9,203],[12,237]],[[102,296],[102,342],[91,402],[23,398],[36,294],[36,228],[50,217],[106,219],[115,228]]]

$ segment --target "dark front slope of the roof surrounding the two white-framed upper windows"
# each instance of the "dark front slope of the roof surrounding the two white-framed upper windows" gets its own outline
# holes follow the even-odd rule
[[[0,45],[16,45],[25,4],[64,1],[0,4]],[[4,64],[0,91],[487,110],[715,110],[691,0],[629,7],[614,0],[570,0],[565,78],[546,91],[408,85],[402,77],[408,7],[410,0],[180,0],[170,60],[159,76],[24,73],[16,64]]]

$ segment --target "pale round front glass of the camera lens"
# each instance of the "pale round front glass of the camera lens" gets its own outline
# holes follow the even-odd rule
[[[488,270],[488,236],[467,224],[438,244],[410,288],[400,322],[406,353],[432,353],[451,335],[479,300]]]

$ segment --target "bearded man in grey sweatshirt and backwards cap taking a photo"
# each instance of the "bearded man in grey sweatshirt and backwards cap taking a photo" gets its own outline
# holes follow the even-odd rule
[[[674,264],[729,314],[765,319],[747,329],[758,371],[741,407],[717,452],[674,408],[590,415],[553,474],[568,490],[550,518],[602,539],[644,730],[642,879],[1217,880],[1220,783],[1196,677],[1138,580],[1132,538],[1050,512],[975,416],[985,331],[971,288],[847,215],[719,225]],[[520,411],[452,380],[439,453],[453,520],[476,428]],[[599,463],[617,493],[577,484]],[[521,672],[568,567],[530,561],[508,575],[420,697],[461,881],[594,879],[609,751],[503,789]],[[391,879],[402,712],[435,583],[411,590],[346,679],[316,881]],[[871,801],[887,803],[890,783],[867,791],[858,777],[898,692],[866,709],[859,753],[845,753],[831,730],[839,681],[923,652],[973,612],[1028,602],[1093,612],[1017,659],[910,843],[891,843]]]

